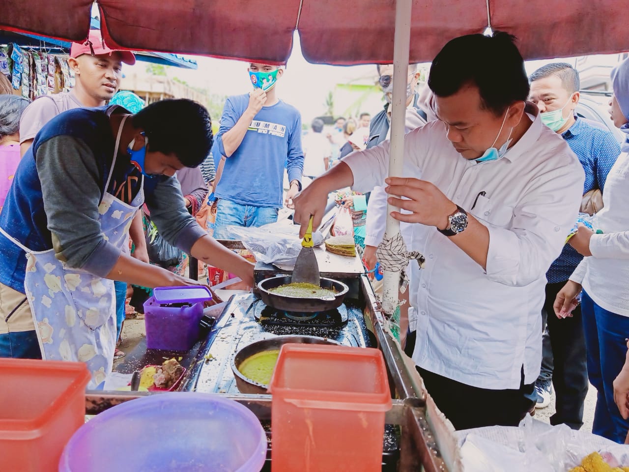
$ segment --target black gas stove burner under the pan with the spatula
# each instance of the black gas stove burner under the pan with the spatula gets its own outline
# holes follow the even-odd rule
[[[300,313],[276,310],[259,300],[253,306],[255,319],[262,324],[301,327],[340,327],[347,322],[347,306],[344,304],[327,312]]]

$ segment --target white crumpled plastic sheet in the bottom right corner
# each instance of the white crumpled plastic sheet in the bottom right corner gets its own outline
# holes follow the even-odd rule
[[[599,452],[612,467],[629,466],[629,446],[530,415],[518,427],[489,426],[457,435],[465,472],[566,472],[591,452]]]

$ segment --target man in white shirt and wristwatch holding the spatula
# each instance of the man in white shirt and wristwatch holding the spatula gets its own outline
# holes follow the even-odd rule
[[[327,194],[387,185],[426,257],[411,280],[413,360],[456,429],[517,425],[535,403],[545,274],[579,211],[584,172],[526,103],[514,38],[467,35],[443,47],[428,86],[439,118],[406,135],[404,176],[386,177],[389,142],[348,155],[295,200],[318,226]],[[415,178],[417,177],[417,178]],[[415,274],[414,274],[415,275]],[[481,408],[490,405],[490,408]]]

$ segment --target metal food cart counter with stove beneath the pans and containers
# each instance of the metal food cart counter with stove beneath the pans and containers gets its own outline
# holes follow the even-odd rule
[[[230,249],[244,249],[238,241],[223,241],[223,244]],[[267,465],[263,469],[267,470],[272,448],[271,396],[261,393],[265,391],[265,386],[260,387],[259,383],[240,385],[246,378],[238,373],[235,364],[239,353],[246,353],[245,348],[264,340],[304,342],[304,337],[326,339],[343,346],[374,347],[382,352],[386,362],[392,398],[392,408],[386,413],[382,470],[411,471],[417,470],[420,464],[426,471],[448,470],[435,433],[426,419],[427,405],[421,393],[420,379],[412,362],[408,357],[405,359],[398,342],[387,330],[387,320],[379,309],[362,262],[357,256],[340,256],[326,251],[325,247],[316,248],[315,254],[321,277],[340,281],[348,288],[338,308],[320,313],[276,310],[264,303],[259,288],[250,294],[238,291],[229,298],[221,312],[205,318],[205,330],[188,351],[147,349],[146,339],[143,339],[134,351],[126,354],[124,362],[116,370],[131,374],[145,366],[162,364],[164,359],[179,359],[186,371],[174,390],[219,393],[237,400],[255,413],[265,426],[269,439]],[[262,262],[258,262],[255,268],[257,283],[282,275],[289,276],[290,271]],[[211,313],[213,309],[209,307],[204,311]],[[88,392],[87,413],[103,412],[106,408],[142,395],[152,393]],[[441,434],[452,434],[452,429],[448,430],[445,423],[442,427]],[[454,450],[454,435],[450,441]]]

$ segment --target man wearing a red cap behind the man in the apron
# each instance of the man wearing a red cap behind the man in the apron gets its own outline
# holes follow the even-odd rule
[[[62,111],[104,106],[120,88],[123,62],[135,64],[135,55],[108,48],[99,30],[90,30],[84,43],[72,43],[68,64],[76,79],[74,89],[43,95],[26,108],[19,121],[21,154],[24,155],[42,126]]]

